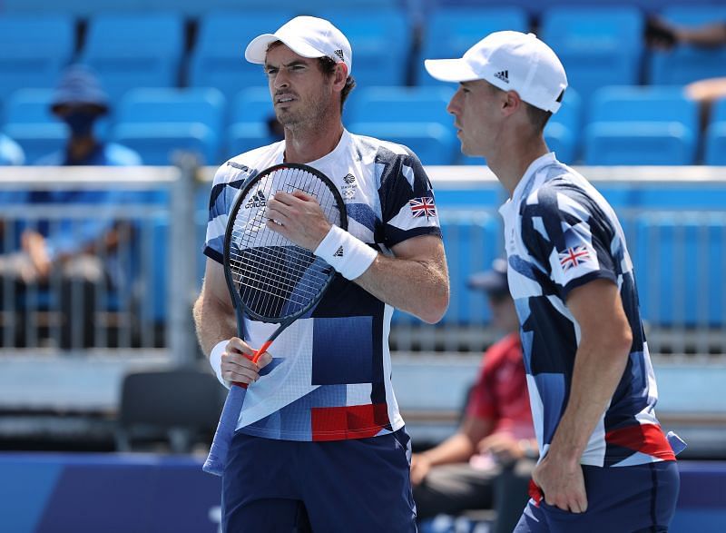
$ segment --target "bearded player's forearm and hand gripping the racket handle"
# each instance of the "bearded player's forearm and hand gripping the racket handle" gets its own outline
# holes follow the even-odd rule
[[[208,357],[217,344],[226,341],[220,368],[215,368],[215,363],[211,361],[218,376],[221,375],[226,381],[242,383],[251,383],[260,377],[260,369],[272,358],[265,352],[255,364],[245,356],[251,356],[254,350],[237,336],[237,321],[224,270],[221,264],[211,259],[207,260],[204,282],[199,298],[194,302],[193,315],[201,350]]]

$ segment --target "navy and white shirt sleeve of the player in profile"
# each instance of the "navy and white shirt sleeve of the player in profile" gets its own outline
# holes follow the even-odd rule
[[[614,239],[609,219],[580,190],[544,186],[522,210],[525,247],[563,300],[589,281],[617,281]]]

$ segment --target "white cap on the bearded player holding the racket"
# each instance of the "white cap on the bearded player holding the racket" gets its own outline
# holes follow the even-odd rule
[[[265,64],[267,47],[281,41],[295,54],[303,57],[329,57],[353,69],[353,53],[345,35],[327,20],[316,16],[296,16],[280,26],[274,34],[262,34],[247,45],[244,57],[250,63]]]

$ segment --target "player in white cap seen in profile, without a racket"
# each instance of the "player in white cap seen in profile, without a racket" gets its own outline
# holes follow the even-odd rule
[[[567,87],[563,65],[535,35],[505,31],[426,67],[459,83],[448,111],[462,151],[486,157],[510,194],[500,209],[507,276],[542,451],[515,531],[666,531],[679,476],[653,411],[623,230],[544,143]]]

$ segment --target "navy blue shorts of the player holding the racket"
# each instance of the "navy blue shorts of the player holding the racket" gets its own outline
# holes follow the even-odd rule
[[[222,476],[225,533],[415,532],[404,429],[309,442],[239,431]]]

